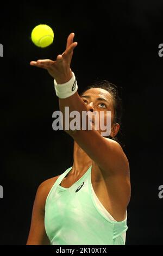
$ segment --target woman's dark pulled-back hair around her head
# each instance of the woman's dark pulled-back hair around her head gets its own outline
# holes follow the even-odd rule
[[[101,81],[97,81],[97,82],[91,84],[91,86],[87,86],[83,90],[83,92],[80,93],[80,96],[82,96],[86,92],[86,90],[93,89],[93,88],[101,88],[111,94],[112,100],[113,100],[114,114],[115,114],[114,123],[115,124],[118,123],[120,125],[120,130],[118,131],[118,134],[122,135],[122,133],[121,133],[122,100],[118,93],[118,87],[115,84],[110,83],[107,80],[101,80]],[[117,141],[118,143],[120,143],[122,145],[122,143],[117,138],[117,136],[116,137],[108,136],[108,138],[114,139],[114,141]],[[123,146],[124,145],[122,145],[122,147]]]

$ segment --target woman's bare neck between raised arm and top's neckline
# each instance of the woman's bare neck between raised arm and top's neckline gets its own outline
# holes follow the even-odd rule
[[[85,173],[86,170],[92,165],[92,160],[85,153],[83,149],[74,141],[73,147],[73,167],[71,173],[74,176],[79,176],[82,173]]]

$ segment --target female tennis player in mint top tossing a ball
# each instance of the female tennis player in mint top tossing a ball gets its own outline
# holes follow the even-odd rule
[[[82,112],[103,112],[99,123],[106,124],[111,112],[110,135],[102,136],[100,125],[95,129],[95,117],[90,119],[92,129],[64,129],[74,140],[73,166],[37,188],[27,245],[125,245],[129,162],[114,140],[120,129],[120,98],[116,86],[106,81],[78,94],[70,68],[77,46],[73,38],[71,33],[65,52],[55,61],[37,60],[30,65],[47,69],[54,78],[63,116],[65,107],[80,117]]]

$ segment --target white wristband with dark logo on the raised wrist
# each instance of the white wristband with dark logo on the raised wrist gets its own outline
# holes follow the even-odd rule
[[[54,88],[56,95],[61,99],[65,99],[76,93],[78,85],[74,73],[72,72],[71,79],[66,83],[58,84],[54,79]]]

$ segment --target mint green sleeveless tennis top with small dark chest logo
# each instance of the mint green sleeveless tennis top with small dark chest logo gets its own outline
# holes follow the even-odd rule
[[[60,186],[72,167],[55,181],[45,204],[45,230],[51,245],[124,245],[126,219],[115,221],[97,198],[91,169],[71,187]]]

